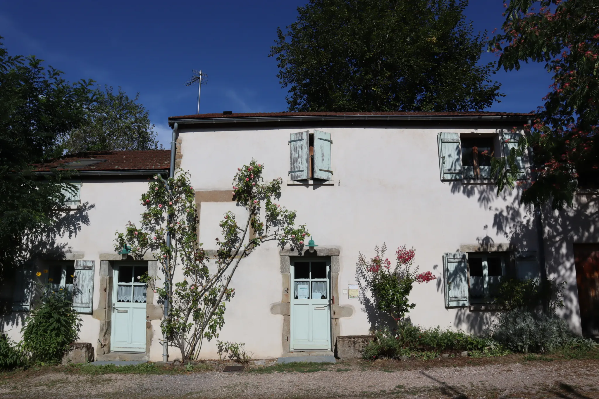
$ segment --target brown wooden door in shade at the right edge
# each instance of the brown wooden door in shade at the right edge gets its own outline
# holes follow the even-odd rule
[[[574,244],[583,336],[599,336],[599,243]]]

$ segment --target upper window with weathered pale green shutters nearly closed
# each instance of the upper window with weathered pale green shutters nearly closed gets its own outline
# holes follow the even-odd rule
[[[314,130],[289,135],[289,178],[331,180],[331,133]]]

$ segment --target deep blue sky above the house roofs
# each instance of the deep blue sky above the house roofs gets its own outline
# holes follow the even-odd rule
[[[170,147],[167,118],[195,114],[191,69],[208,74],[200,112],[277,112],[286,89],[268,57],[277,26],[294,22],[305,0],[13,1],[0,7],[0,36],[10,54],[35,54],[68,80],[93,78],[122,86],[150,112]],[[466,16],[475,31],[499,28],[501,0],[472,0]],[[483,54],[482,62],[495,60]],[[528,112],[542,105],[550,75],[542,65],[497,72],[507,97],[489,111]]]

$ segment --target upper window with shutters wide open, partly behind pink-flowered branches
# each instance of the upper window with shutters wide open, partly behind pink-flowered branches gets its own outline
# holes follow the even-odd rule
[[[466,133],[438,134],[439,166],[441,180],[482,179],[490,180],[493,157],[506,156],[518,147],[519,133],[504,132],[501,135],[473,135]],[[516,157],[519,178],[525,178],[522,157]]]

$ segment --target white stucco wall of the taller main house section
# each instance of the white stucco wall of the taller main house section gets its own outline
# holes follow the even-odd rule
[[[415,324],[425,327],[479,331],[489,313],[445,309],[442,284],[443,252],[483,241],[515,242],[536,251],[536,233],[516,193],[499,197],[494,185],[440,181],[437,133],[495,133],[495,129],[368,129],[313,126],[331,133],[334,186],[287,185],[289,134],[307,128],[186,132],[181,168],[190,172],[195,190],[229,190],[237,167],[255,158],[265,165],[264,178],[282,176],[280,203],[297,211],[297,223],[307,224],[319,245],[340,248],[340,298],[355,313],[340,320],[341,335],[367,334],[370,324],[358,300],[341,290],[356,282],[358,252],[374,255],[374,245],[386,242],[389,258],[406,243],[416,248],[420,271],[438,279],[416,285],[410,300]],[[210,148],[211,150],[207,150]],[[211,248],[219,234],[217,221],[231,203],[202,203],[201,242]],[[279,252],[274,245],[259,248],[243,261],[232,282],[237,296],[227,305],[220,339],[245,342],[258,357],[280,354],[283,316],[271,315],[271,303],[281,300]],[[216,352],[205,345],[205,357]]]

